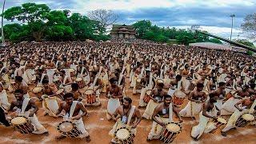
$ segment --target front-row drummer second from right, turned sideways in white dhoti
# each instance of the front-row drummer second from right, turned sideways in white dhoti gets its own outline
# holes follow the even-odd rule
[[[191,137],[197,141],[202,134],[205,132],[210,132],[215,127],[210,126],[210,118],[217,120],[217,110],[218,108],[214,105],[217,102],[217,95],[209,94],[210,100],[203,104],[202,111],[199,114],[199,123],[197,126],[193,126],[191,130]]]

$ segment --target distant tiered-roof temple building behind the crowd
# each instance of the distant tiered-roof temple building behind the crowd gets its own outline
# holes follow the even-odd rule
[[[113,25],[110,31],[111,38],[135,38],[136,31],[133,26]]]

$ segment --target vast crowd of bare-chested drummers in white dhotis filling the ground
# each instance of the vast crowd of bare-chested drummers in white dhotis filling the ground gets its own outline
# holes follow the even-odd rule
[[[142,118],[153,122],[146,141],[173,142],[185,117],[198,121],[194,140],[218,129],[226,137],[256,124],[255,60],[139,40],[18,43],[0,49],[0,121],[22,134],[47,134],[37,118],[36,102],[42,102],[45,117],[63,118],[56,140],[90,142],[82,117],[105,97],[106,118],[116,122],[112,143],[134,142]],[[137,107],[128,89],[138,95]]]

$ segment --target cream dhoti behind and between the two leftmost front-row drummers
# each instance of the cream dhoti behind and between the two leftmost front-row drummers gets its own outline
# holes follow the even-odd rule
[[[61,101],[61,100],[59,100]],[[42,108],[50,116],[54,116],[58,111],[58,101],[56,97],[45,98],[42,101]]]

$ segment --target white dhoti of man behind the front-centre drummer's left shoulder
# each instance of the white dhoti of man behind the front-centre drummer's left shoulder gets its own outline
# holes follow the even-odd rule
[[[114,114],[115,110],[121,106],[118,98],[110,98],[107,102],[107,113],[106,118],[111,119],[111,115]]]

